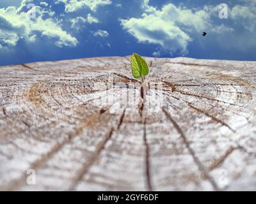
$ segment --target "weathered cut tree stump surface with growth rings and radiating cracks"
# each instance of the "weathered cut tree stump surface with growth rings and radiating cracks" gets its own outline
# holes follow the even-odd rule
[[[256,190],[256,62],[145,59],[1,67],[0,190]]]

